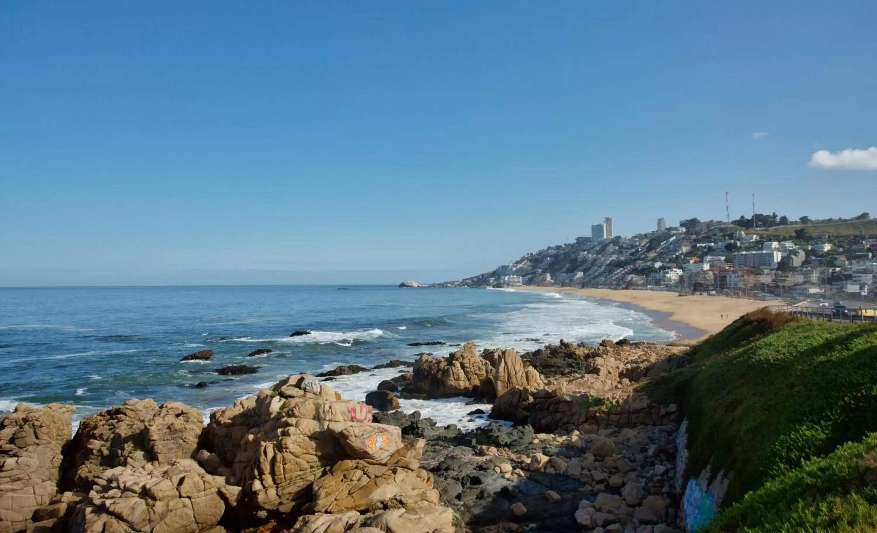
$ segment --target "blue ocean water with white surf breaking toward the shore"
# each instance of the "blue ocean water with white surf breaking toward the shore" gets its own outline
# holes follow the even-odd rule
[[[311,330],[289,337],[294,330]],[[75,420],[129,398],[174,400],[205,413],[255,394],[291,373],[342,364],[373,366],[444,356],[453,346],[409,346],[474,340],[481,348],[519,352],[560,338],[666,341],[645,314],[607,302],[553,292],[389,286],[139,287],[0,289],[0,411],[18,402],[74,405]],[[533,339],[538,339],[538,342]],[[257,348],[273,352],[246,354]],[[198,350],[210,361],[180,362]],[[227,365],[259,373],[220,376]],[[346,398],[364,400],[391,368],[333,380]],[[224,380],[206,388],[198,381]],[[441,424],[469,428],[483,416],[465,398],[402,401]],[[484,406],[481,406],[482,408]],[[489,406],[487,406],[489,408]],[[488,410],[488,409],[486,409]]]

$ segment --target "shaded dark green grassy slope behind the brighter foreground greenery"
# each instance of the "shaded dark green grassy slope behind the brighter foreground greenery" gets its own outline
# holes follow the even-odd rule
[[[688,473],[709,464],[713,473],[732,473],[723,507],[751,493],[755,501],[741,503],[750,510],[766,499],[767,507],[791,512],[803,500],[778,483],[795,485],[809,475],[804,470],[819,467],[802,466],[806,461],[877,431],[873,325],[806,322],[762,309],[683,357],[688,366],[667,374],[654,392],[663,402],[678,402],[688,416]],[[784,499],[771,501],[778,491]],[[808,494],[828,507],[845,505],[831,500],[831,491]]]

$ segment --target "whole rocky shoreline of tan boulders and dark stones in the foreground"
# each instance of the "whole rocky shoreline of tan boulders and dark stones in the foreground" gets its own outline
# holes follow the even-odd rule
[[[129,400],[82,419],[0,417],[0,533],[439,533],[678,529],[674,406],[640,392],[679,348],[610,341],[390,361],[366,402],[291,375],[210,413]],[[206,357],[206,354],[204,354]],[[411,366],[407,372],[405,366]],[[468,396],[495,421],[461,431],[397,397]]]

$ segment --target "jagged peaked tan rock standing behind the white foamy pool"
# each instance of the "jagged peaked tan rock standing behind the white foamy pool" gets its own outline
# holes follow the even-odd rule
[[[414,363],[413,387],[406,387],[406,391],[426,394],[429,398],[475,396],[479,394],[481,381],[493,372],[488,360],[482,358],[469,341],[446,358],[421,355]],[[411,388],[413,390],[409,390]]]

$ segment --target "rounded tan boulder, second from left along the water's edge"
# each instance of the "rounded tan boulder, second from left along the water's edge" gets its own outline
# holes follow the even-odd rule
[[[65,475],[87,492],[91,480],[109,468],[191,458],[202,430],[198,409],[180,402],[159,406],[152,399],[128,400],[82,419]]]

